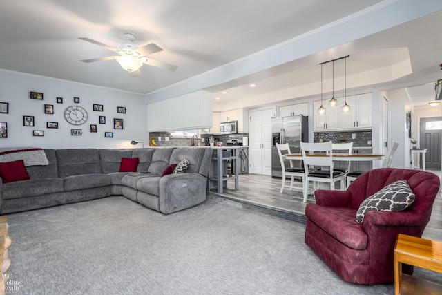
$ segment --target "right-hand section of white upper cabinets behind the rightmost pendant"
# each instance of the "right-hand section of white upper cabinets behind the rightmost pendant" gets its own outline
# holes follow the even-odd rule
[[[341,113],[340,129],[372,128],[372,93],[347,96],[348,113]]]

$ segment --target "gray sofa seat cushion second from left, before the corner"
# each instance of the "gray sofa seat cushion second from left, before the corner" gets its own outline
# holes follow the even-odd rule
[[[83,174],[72,175],[63,179],[64,191],[78,191],[79,189],[93,189],[112,184],[112,178],[108,174]]]

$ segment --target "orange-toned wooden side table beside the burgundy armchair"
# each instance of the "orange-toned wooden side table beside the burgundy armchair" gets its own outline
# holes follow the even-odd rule
[[[399,234],[394,247],[394,294],[442,294],[442,285],[402,274],[402,263],[442,272],[442,242]]]

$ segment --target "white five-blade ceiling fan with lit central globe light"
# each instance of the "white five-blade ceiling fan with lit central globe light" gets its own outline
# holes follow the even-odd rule
[[[126,44],[119,44],[117,48],[114,48],[112,46],[108,46],[106,44],[102,44],[99,41],[95,41],[93,39],[80,37],[79,39],[88,41],[92,44],[102,46],[104,48],[107,48],[108,50],[112,50],[115,53],[118,53],[119,55],[114,55],[110,57],[98,57],[96,59],[84,59],[81,60],[83,62],[89,63],[94,61],[105,61],[105,60],[111,60],[116,59],[122,68],[124,70],[127,70],[131,77],[140,77],[140,67],[143,64],[148,64],[149,66],[156,66],[157,68],[164,68],[165,70],[171,70],[174,71],[177,69],[177,66],[173,66],[173,64],[166,64],[163,61],[157,61],[155,59],[151,59],[150,57],[146,57],[146,55],[151,55],[153,53],[157,53],[162,51],[162,48],[159,46],[151,43],[147,44],[146,46],[142,46],[138,48],[137,46],[132,44],[132,41],[135,41],[137,37],[129,32],[125,32],[122,35],[123,39],[126,41]]]

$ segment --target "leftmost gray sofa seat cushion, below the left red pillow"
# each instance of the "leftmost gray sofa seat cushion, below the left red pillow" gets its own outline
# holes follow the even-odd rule
[[[63,192],[63,180],[61,178],[41,178],[3,184],[1,198],[6,200],[61,192]]]

